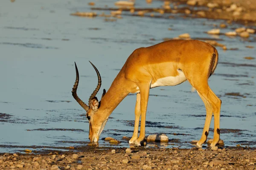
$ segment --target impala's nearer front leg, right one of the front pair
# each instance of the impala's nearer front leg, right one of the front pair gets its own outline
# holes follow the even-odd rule
[[[146,112],[148,106],[148,96],[149,96],[149,88],[150,83],[144,83],[139,86],[140,89],[140,113],[141,113],[141,120],[140,120],[140,136],[137,140],[135,140],[135,144],[141,146],[141,143],[144,141],[145,138],[145,122],[146,122]]]

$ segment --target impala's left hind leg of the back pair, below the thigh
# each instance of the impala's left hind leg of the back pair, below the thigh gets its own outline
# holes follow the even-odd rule
[[[212,108],[212,105],[210,104],[210,102],[207,101],[207,99],[205,99],[199,92],[198,92],[198,95],[203,100],[205,108],[206,108],[206,118],[205,118],[205,123],[204,123],[204,130],[203,130],[201,139],[196,144],[197,147],[201,148],[202,144],[204,144],[206,142],[207,136],[209,134],[209,127],[210,127],[210,123],[211,123],[211,120],[212,120],[213,108]]]

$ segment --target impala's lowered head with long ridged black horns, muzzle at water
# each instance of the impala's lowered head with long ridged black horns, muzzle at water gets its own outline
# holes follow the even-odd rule
[[[90,62],[90,61],[89,61]],[[91,62],[90,62],[91,63]],[[91,63],[93,65],[93,63]],[[76,62],[75,62],[76,66]],[[76,82],[74,84],[72,95],[76,99],[76,101],[81,105],[82,108],[86,111],[86,117],[89,121],[89,139],[90,142],[98,142],[99,141],[99,135],[102,133],[103,128],[106,125],[106,122],[108,121],[108,117],[103,116],[103,111],[100,111],[100,103],[96,97],[96,94],[99,91],[99,88],[101,86],[101,77],[99,74],[99,71],[97,68],[93,65],[93,68],[95,69],[97,76],[98,76],[98,85],[96,89],[93,91],[89,98],[89,105],[86,105],[76,94],[76,90],[79,83],[79,72],[76,66]],[[102,97],[106,94],[105,89],[103,90]]]

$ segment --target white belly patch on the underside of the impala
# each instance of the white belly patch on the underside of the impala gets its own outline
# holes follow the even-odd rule
[[[167,85],[179,85],[182,82],[186,81],[186,77],[181,70],[178,70],[178,75],[175,77],[163,77],[161,79],[157,79],[156,82],[152,82],[150,88],[158,87],[158,86],[167,86]]]

